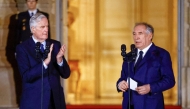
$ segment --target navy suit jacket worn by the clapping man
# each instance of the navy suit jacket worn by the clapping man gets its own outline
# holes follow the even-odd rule
[[[35,42],[32,38],[16,48],[16,59],[22,78],[20,109],[41,109],[41,106],[43,109],[48,109],[51,92],[56,109],[66,109],[60,76],[64,79],[68,78],[70,68],[64,57],[63,66],[57,64],[56,55],[61,47],[60,42],[51,39],[46,40],[47,42],[54,44],[51,62],[47,69],[43,66],[42,56],[36,57]]]

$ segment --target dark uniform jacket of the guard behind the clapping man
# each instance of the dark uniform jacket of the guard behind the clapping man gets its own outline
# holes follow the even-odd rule
[[[38,12],[44,14],[49,19],[48,13],[37,10],[37,13]],[[29,39],[32,36],[29,24],[30,18],[31,17],[28,10],[18,14],[18,22],[17,22],[18,27],[17,27],[17,36],[16,36],[17,44],[22,43],[23,41]],[[48,37],[50,38],[50,28],[48,31]]]

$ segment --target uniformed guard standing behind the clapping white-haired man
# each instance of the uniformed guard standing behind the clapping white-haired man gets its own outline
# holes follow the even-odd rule
[[[17,39],[16,39],[17,44],[22,43],[23,41],[29,39],[32,36],[29,27],[29,20],[32,15],[36,13],[42,13],[49,19],[48,13],[42,12],[36,8],[38,0],[25,0],[25,1],[28,10],[20,12],[18,14],[18,27],[17,27]],[[48,32],[49,32],[48,37],[50,38],[50,30]]]

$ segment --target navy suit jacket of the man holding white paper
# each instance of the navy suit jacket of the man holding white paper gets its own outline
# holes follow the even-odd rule
[[[151,92],[145,95],[130,90],[131,104],[134,105],[134,109],[164,109],[162,92],[175,85],[170,54],[152,44],[136,69],[134,69],[134,62],[130,62],[129,66],[130,69],[128,63],[123,62],[121,77],[116,83],[117,90],[120,92],[118,83],[127,80],[129,70],[130,77],[137,81],[138,86],[150,84],[151,89]],[[123,93],[123,109],[128,109],[128,91]]]

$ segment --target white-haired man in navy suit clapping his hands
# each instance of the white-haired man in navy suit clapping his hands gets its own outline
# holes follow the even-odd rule
[[[65,45],[48,39],[48,20],[37,13],[30,19],[32,37],[17,45],[16,59],[22,78],[20,109],[66,109],[60,76],[70,76]]]

